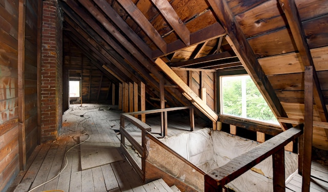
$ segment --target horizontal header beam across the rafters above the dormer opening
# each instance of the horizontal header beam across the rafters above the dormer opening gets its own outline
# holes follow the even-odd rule
[[[220,36],[226,35],[226,31],[222,28],[219,23],[215,23],[206,28],[200,29],[190,34],[190,45],[200,44],[201,42],[212,40]],[[181,49],[185,49],[187,46],[180,40],[176,40],[167,45],[167,53],[163,53],[160,49],[152,51],[152,58],[156,59]]]

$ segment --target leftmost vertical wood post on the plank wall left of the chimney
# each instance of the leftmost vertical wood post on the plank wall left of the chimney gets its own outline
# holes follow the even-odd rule
[[[18,149],[19,168],[26,167],[25,136],[25,20],[26,0],[19,0],[18,5]]]

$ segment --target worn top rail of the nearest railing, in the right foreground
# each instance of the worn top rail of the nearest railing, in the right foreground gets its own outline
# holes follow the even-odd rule
[[[284,131],[268,141],[259,144],[252,148],[252,150],[235,157],[227,164],[211,170],[205,176],[207,184],[215,189],[218,188],[218,191],[220,191],[220,188],[224,185],[247,172],[247,170],[251,169],[269,156],[278,153],[286,144],[299,137],[303,133],[302,128],[303,124],[297,125],[296,127]],[[273,179],[275,180],[275,178]]]

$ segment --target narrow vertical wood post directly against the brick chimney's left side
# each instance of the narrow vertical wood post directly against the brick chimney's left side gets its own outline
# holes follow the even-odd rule
[[[37,4],[37,40],[36,40],[37,41],[36,92],[37,92],[37,144],[39,145],[41,144],[41,50],[42,50],[41,41],[42,41],[43,1],[38,1],[37,3],[38,4]],[[64,100],[64,102],[65,101],[66,100]]]

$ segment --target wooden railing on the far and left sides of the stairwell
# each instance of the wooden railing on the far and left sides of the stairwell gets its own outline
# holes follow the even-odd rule
[[[178,111],[178,110],[190,110],[190,131],[194,130],[194,106],[182,106],[177,108],[166,108],[166,109],[158,109],[158,110],[148,110],[148,111],[139,111],[139,112],[131,112],[131,113],[122,113],[120,116],[120,134],[121,134],[121,148],[124,151],[126,157],[128,158],[129,162],[133,166],[133,168],[136,170],[137,174],[140,176],[142,180],[145,179],[145,164],[146,164],[146,135],[151,135],[149,132],[151,131],[151,126],[146,124],[145,122],[142,122],[138,118],[134,117],[135,115],[141,115],[141,114],[155,114],[155,113],[164,113],[164,119],[162,118],[162,126],[161,126],[161,136],[167,135],[167,113],[170,111]],[[133,125],[137,126],[141,130],[141,144],[138,143],[126,130],[125,130],[125,124],[126,121],[131,122]],[[153,136],[150,136],[152,140],[154,140],[157,143],[160,143],[160,141]],[[133,148],[141,155],[141,166],[131,157],[129,154],[127,148],[125,139],[127,139]],[[165,148],[169,149],[167,146],[162,144]],[[172,153],[177,155],[175,152],[171,150]],[[181,157],[182,158],[182,157]],[[182,158],[183,159],[183,158]],[[184,159],[185,160],[185,159]],[[185,160],[188,162],[187,160]],[[190,162],[188,162],[190,163]],[[194,165],[193,165],[194,166]],[[196,166],[194,166],[196,168]]]

